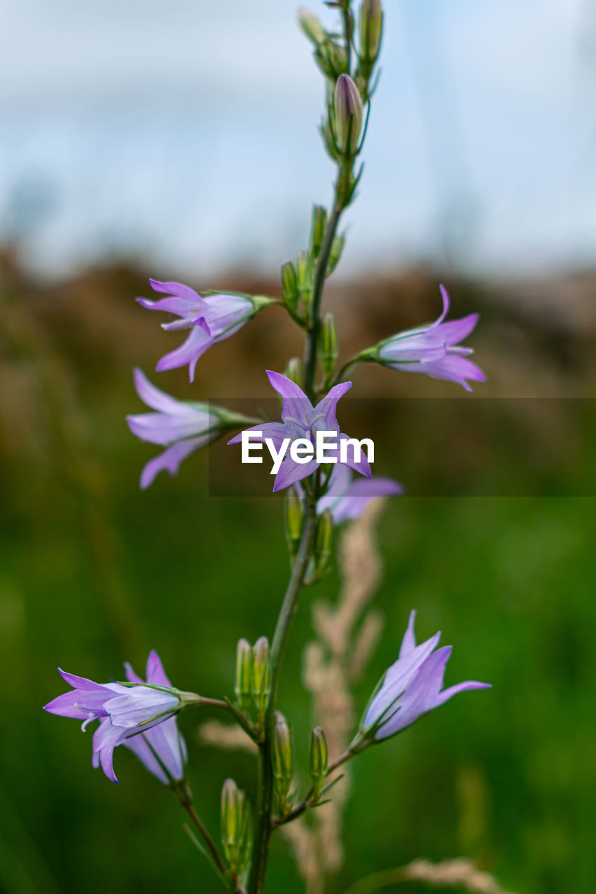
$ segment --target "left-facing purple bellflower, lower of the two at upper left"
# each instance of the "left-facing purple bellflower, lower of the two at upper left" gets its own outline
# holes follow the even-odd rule
[[[134,387],[140,400],[154,413],[127,416],[126,422],[141,441],[166,445],[166,450],[143,467],[140,486],[143,490],[153,483],[159,472],[178,474],[180,463],[200,447],[215,441],[230,428],[250,422],[249,417],[229,412],[206,403],[176,401],[149,382],[144,373],[135,368]]]

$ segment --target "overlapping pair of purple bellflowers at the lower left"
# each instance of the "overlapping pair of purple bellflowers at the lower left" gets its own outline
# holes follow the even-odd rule
[[[167,772],[174,779],[182,778],[185,746],[176,729],[175,714],[187,694],[173,690],[157,652],[149,654],[147,686],[95,683],[58,670],[72,689],[44,705],[45,710],[82,721],[82,730],[92,721],[99,721],[93,734],[94,767],[101,764],[107,778],[117,782],[114,749],[125,745],[159,780],[167,781]],[[126,678],[131,683],[144,683],[130,665],[126,665]],[[188,699],[186,704],[190,704]]]

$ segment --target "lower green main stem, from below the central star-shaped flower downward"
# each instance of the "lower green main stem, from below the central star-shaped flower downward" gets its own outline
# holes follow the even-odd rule
[[[275,725],[275,709],[277,701],[277,687],[279,672],[285,652],[285,643],[294,619],[294,613],[298,604],[311,558],[312,544],[317,529],[316,499],[307,496],[307,506],[302,528],[302,537],[298,554],[294,561],[292,574],[285,590],[284,603],[282,604],[277,627],[271,644],[271,694],[269,696],[267,713],[265,714],[265,737],[259,748],[259,795],[257,801],[257,829],[252,851],[251,877],[248,883],[248,894],[261,894],[265,884],[265,873],[269,852],[269,836],[271,834],[271,812],[273,807],[273,768],[271,763],[271,742],[273,727]]]

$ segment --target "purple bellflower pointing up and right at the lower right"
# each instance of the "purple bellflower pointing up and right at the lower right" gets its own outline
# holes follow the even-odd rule
[[[379,741],[395,736],[458,692],[490,687],[488,683],[468,680],[443,689],[445,665],[451,654],[451,646],[444,645],[434,651],[440,633],[416,645],[413,630],[415,617],[416,612],[411,611],[399,657],[381,680],[364,714],[361,728],[367,738]]]

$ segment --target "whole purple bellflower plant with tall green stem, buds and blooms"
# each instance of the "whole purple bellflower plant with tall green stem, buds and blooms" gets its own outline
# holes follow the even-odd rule
[[[191,382],[206,350],[232,337],[261,310],[275,305],[285,309],[302,330],[304,352],[303,359],[288,360],[284,375],[267,371],[269,383],[281,397],[281,417],[256,419],[205,401],[180,401],[136,368],[135,389],[149,411],[126,419],[132,434],[162,448],[141,471],[143,489],[160,471],[177,474],[192,453],[234,431],[228,444],[242,442],[249,435],[255,443],[269,443],[276,451],[273,490],[283,492],[291,570],[273,636],[270,642],[262,636],[254,645],[246,639],[239,641],[233,696],[211,698],[173,687],[158,654],[151,652],[145,679],[130,664],[124,666],[124,679],[107,683],[60,671],[71,688],[45,706],[49,713],[81,721],[82,730],[97,722],[92,764],[101,766],[109,780],[117,781],[114,752],[124,746],[160,783],[172,789],[198,835],[195,844],[226,890],[235,894],[262,894],[272,835],[333,799],[339,767],[370,746],[407,730],[460,692],[487,686],[466,681],[444,688],[451,647],[438,647],[440,634],[417,645],[412,611],[397,660],[370,696],[352,743],[343,753],[328,755],[325,730],[312,730],[311,784],[302,797],[298,796],[299,786],[293,789],[292,731],[278,710],[277,692],[300,595],[328,568],[334,528],[359,519],[371,501],[404,493],[399,482],[371,476],[369,459],[350,447],[351,439],[341,429],[337,418],[341,418],[340,399],[352,387],[347,374],[359,363],[374,362],[454,382],[467,391],[470,382],[485,378],[469,359],[472,348],[462,344],[473,333],[478,315],[447,321],[449,298],[444,286],[440,286],[443,310],[434,323],[392,335],[338,368],[336,322],[331,314],[322,312],[323,295],[345,247],[340,223],[362,176],[358,158],[379,71],[383,10],[380,0],[360,0],[357,11],[355,0],[328,5],[336,7],[339,30],[326,30],[314,13],[305,10],[299,13],[299,24],[313,46],[314,61],[326,85],[320,130],[336,179],[329,209],[315,206],[312,210],[308,249],[298,254],[295,263],[286,261],[282,266],[282,299],[226,291],[199,294],[182,283],[157,280],[150,280],[150,286],[163,297],[137,299],[143,308],[168,315],[161,324],[166,333],[185,333],[182,344],[158,360],[157,372],[188,366]],[[324,460],[311,450],[319,434],[336,437],[336,446],[329,447]],[[296,447],[306,455],[296,453]],[[220,844],[201,821],[186,778],[188,753],[178,729],[178,714],[192,708],[226,713],[251,740],[257,754],[254,804],[234,780],[224,782]]]

